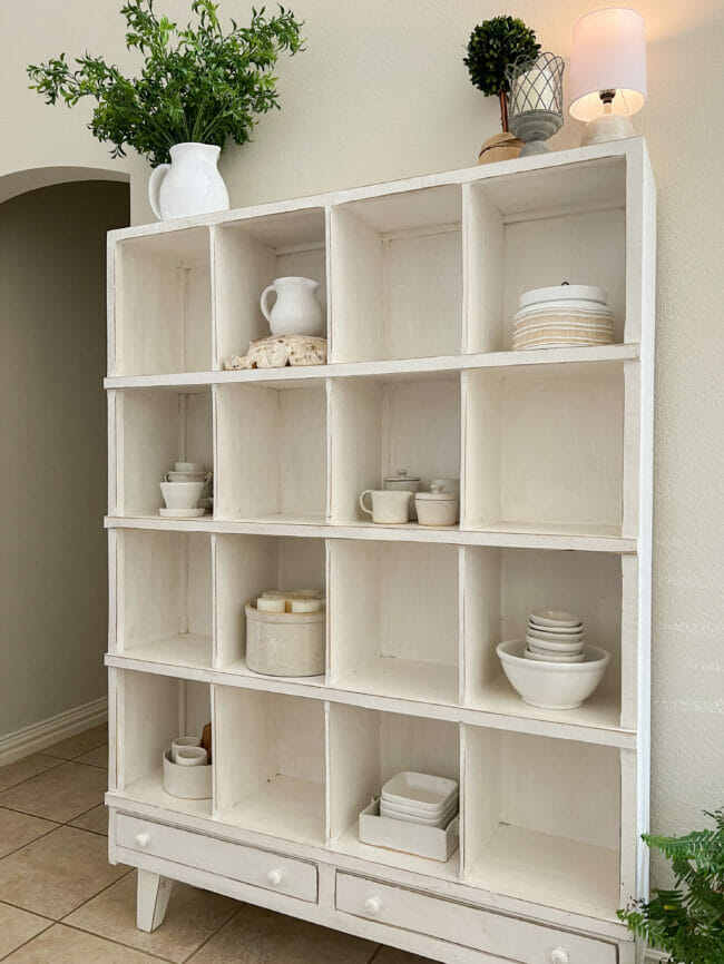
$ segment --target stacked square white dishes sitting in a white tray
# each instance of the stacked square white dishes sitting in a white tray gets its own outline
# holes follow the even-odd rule
[[[382,787],[381,817],[427,827],[447,827],[457,813],[456,780],[404,770]]]

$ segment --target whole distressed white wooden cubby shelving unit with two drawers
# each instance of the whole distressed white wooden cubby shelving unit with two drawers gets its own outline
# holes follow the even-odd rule
[[[170,878],[450,964],[633,964],[654,265],[638,138],[111,233],[107,803],[139,926]],[[281,274],[320,282],[329,364],[224,371]],[[616,343],[510,351],[521,292],[562,281],[609,292]],[[179,458],[213,464],[213,515],[159,518]],[[458,527],[362,515],[401,465],[460,476]],[[244,603],[295,583],[326,593],[326,670],[258,676]],[[576,710],[496,656],[554,603],[612,655]],[[162,751],[208,719],[213,798],[168,796]],[[447,864],[359,842],[402,769],[460,781]]]

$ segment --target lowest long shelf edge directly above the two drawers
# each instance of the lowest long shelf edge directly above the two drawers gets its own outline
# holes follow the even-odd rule
[[[151,803],[150,800],[135,799],[128,796],[126,790],[111,790],[106,794],[105,803],[108,807],[115,807],[123,813],[141,818],[163,820],[172,826],[208,834],[212,837],[231,839],[241,844],[270,847],[270,840],[265,835],[245,829],[236,824],[225,823],[221,815],[212,817],[207,813],[196,814],[190,813],[190,810],[182,810],[176,804],[180,803],[183,805],[184,801],[169,797],[163,790],[159,790],[158,787],[156,788],[156,798],[158,803]],[[352,829],[350,830],[351,833]],[[273,845],[271,846],[273,847]],[[379,859],[374,859],[374,856],[369,853],[371,849],[375,848],[360,844],[359,840],[348,840],[348,835],[333,846],[309,845],[299,843],[297,840],[285,842],[286,856],[316,860],[320,864],[341,867],[371,878],[390,879],[398,886],[423,887],[431,894],[439,893],[443,896],[468,902],[474,906],[499,913],[520,915],[554,926],[575,927],[584,933],[590,933],[600,937],[626,940],[627,932],[625,926],[617,921],[604,917],[597,911],[581,914],[573,908],[561,911],[555,906],[541,904],[540,899],[532,902],[524,901],[507,894],[491,892],[477,879],[456,881],[452,876],[441,876],[439,873],[436,873],[434,867],[428,866],[433,864],[432,860],[423,860],[422,858],[412,856],[405,859],[405,855],[395,854],[394,852],[376,855]],[[459,854],[460,852],[457,850],[448,865],[440,866],[451,868],[452,862],[459,860]],[[410,862],[409,864],[408,860]],[[414,867],[412,866],[413,863]],[[542,893],[545,894],[546,891],[544,889]]]

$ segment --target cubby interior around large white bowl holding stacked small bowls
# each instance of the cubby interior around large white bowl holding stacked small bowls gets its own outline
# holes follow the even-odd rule
[[[466,547],[462,591],[464,701],[489,712],[616,729],[622,725],[622,557],[604,552]],[[596,692],[575,710],[525,704],[508,682],[499,642],[525,639],[528,613],[562,609],[586,642],[610,653]]]

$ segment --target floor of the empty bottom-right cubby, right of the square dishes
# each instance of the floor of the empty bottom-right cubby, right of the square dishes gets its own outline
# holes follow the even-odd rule
[[[608,847],[581,844],[501,824],[468,879],[488,891],[580,914],[616,919],[618,858]]]

